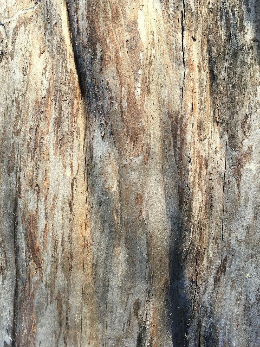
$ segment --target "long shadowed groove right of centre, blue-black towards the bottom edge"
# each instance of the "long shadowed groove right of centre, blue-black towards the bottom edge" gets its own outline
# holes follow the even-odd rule
[[[185,338],[192,301],[189,298],[189,285],[185,277],[187,253],[187,221],[184,210],[187,208],[187,191],[182,177],[182,148],[176,145],[179,117],[168,114],[162,120],[163,141],[163,181],[167,219],[170,222],[169,271],[170,283],[166,293],[166,329],[172,334],[172,345],[188,345]],[[176,135],[177,134],[177,135]],[[187,171],[185,171],[187,174]],[[183,184],[182,184],[183,183]]]

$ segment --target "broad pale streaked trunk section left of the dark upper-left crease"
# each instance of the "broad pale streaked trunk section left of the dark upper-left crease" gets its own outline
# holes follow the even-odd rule
[[[1,2],[0,11],[8,34],[0,64],[0,346],[78,346],[84,103],[66,5],[21,11],[34,3]]]

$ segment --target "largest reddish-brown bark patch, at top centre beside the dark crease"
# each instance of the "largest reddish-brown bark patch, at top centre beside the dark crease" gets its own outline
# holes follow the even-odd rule
[[[90,119],[90,123],[94,126],[94,118],[99,112],[101,135],[104,136],[103,134],[109,127],[120,156],[132,158],[140,155],[144,137],[144,126],[140,122],[144,113],[145,93],[141,91],[140,96],[136,96],[136,90],[140,88],[137,87],[142,64],[140,52],[144,50],[144,44],[137,30],[138,8],[133,6],[133,10],[129,14],[128,11],[125,11],[124,6],[112,3],[108,8],[105,7],[104,11],[106,13],[100,16],[100,12],[95,10],[95,5],[88,3],[87,41],[82,42],[79,46],[79,50],[82,50],[80,54],[84,55],[83,49],[88,45],[92,56],[91,74],[95,85],[92,98],[95,109],[92,110],[93,119]],[[110,25],[111,20],[113,20],[113,26]],[[104,21],[106,23],[104,26],[97,24]],[[80,18],[77,23],[79,30],[83,30]],[[126,27],[124,27],[125,23],[128,23]],[[118,27],[117,35],[114,33],[114,26]],[[122,56],[118,52],[121,52]],[[83,64],[84,59],[81,62]],[[122,62],[124,62],[124,74],[121,73]],[[112,67],[115,74],[114,81],[110,78]],[[83,64],[81,71],[86,70],[86,66]],[[99,79],[100,75],[103,76],[103,81],[106,81],[104,85]],[[86,76],[84,78],[86,79]],[[86,88],[85,84],[84,88]],[[104,95],[107,95],[109,105],[106,105]],[[106,113],[107,107],[110,110],[109,115]],[[90,126],[90,129],[94,129],[93,126]],[[90,136],[93,135],[90,134]]]

